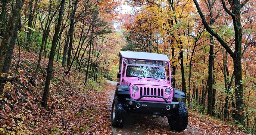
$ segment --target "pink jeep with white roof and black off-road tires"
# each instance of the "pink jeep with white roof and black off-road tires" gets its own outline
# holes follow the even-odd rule
[[[168,118],[171,129],[183,131],[188,111],[180,98],[185,94],[172,87],[167,55],[148,52],[120,52],[119,73],[112,104],[111,123],[123,127],[127,113]],[[168,67],[168,68],[167,68]],[[168,69],[168,75],[165,72]],[[167,77],[169,76],[169,77]]]

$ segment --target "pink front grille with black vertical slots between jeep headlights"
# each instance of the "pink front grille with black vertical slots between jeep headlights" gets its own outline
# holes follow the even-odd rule
[[[140,96],[142,95],[155,95],[164,96],[163,88],[150,88],[150,87],[140,87]]]

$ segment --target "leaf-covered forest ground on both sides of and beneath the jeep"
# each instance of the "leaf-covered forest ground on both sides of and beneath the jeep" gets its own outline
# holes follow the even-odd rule
[[[180,133],[170,130],[166,118],[145,116],[130,116],[124,128],[112,128],[110,115],[115,83],[110,85],[101,79],[88,81],[85,86],[83,73],[71,70],[65,75],[66,69],[58,62],[54,63],[45,109],[41,100],[48,59],[42,58],[38,77],[33,82],[31,78],[37,58],[35,53],[21,50],[14,79],[18,61],[18,50],[14,49],[8,74],[8,78],[14,80],[4,83],[3,94],[0,95],[0,134],[246,134],[237,127],[191,110],[189,126]]]

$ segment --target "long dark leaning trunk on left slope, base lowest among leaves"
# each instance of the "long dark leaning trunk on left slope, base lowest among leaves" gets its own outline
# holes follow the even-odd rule
[[[47,76],[46,76],[46,80],[45,80],[44,94],[43,94],[43,98],[42,98],[42,106],[44,108],[46,108],[46,106],[47,106],[47,97],[48,97],[50,81],[51,81],[51,77],[52,77],[52,67],[53,67],[53,60],[54,60],[55,48],[56,48],[55,46],[57,44],[59,32],[61,29],[61,22],[62,22],[64,6],[65,6],[65,0],[61,0],[61,7],[59,9],[59,16],[58,16],[59,18],[58,18],[55,33],[54,33],[54,36],[52,39],[52,47],[51,47],[51,52],[50,52],[50,56],[49,56]]]

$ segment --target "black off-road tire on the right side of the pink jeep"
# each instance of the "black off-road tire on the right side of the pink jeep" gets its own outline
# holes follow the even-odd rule
[[[189,114],[186,105],[179,101],[179,108],[174,110],[175,116],[168,116],[170,128],[175,131],[183,131],[187,128],[189,122]]]

